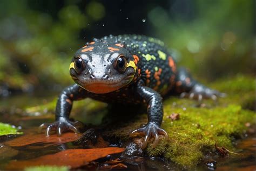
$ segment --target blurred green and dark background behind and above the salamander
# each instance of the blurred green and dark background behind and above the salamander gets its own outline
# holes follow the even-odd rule
[[[60,91],[75,51],[104,35],[163,40],[203,82],[256,71],[255,1],[0,1],[0,96]]]

